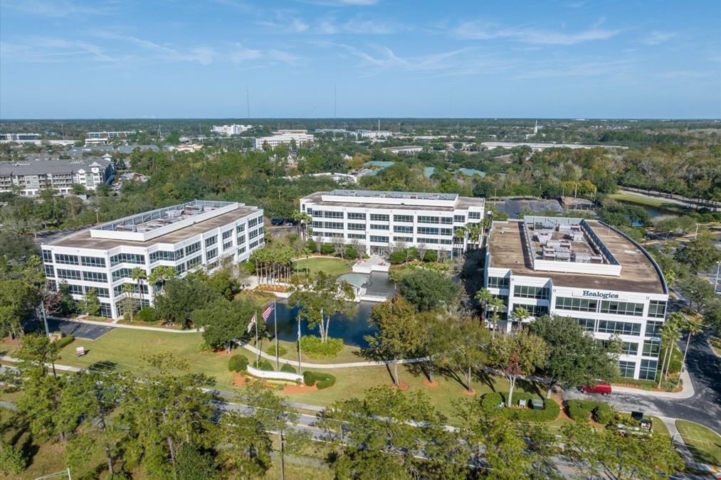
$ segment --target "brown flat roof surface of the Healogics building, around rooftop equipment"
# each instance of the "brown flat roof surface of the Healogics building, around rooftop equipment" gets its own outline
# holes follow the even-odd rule
[[[662,278],[639,246],[599,221],[587,220],[586,223],[621,265],[619,277],[533,270],[524,245],[522,220],[493,223],[488,236],[489,267],[508,268],[513,275],[551,278],[554,285],[562,287],[665,293]]]

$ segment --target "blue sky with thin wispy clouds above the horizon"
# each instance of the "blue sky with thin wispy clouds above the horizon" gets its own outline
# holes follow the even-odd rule
[[[0,0],[0,118],[721,117],[721,2]]]

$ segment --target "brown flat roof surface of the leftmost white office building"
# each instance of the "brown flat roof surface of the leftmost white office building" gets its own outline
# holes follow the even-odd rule
[[[208,220],[194,223],[191,226],[180,228],[176,231],[170,232],[169,234],[156,236],[154,239],[150,239],[148,241],[97,239],[90,236],[90,228],[86,228],[85,230],[77,231],[74,234],[64,236],[61,239],[50,241],[47,244],[43,244],[43,246],[67,246],[79,249],[109,250],[118,246],[148,247],[155,244],[176,244],[179,241],[190,238],[191,236],[201,234],[205,231],[212,230],[213,228],[224,226],[228,223],[240,220],[251,213],[259,211],[260,209],[257,207],[242,205],[229,213],[224,213],[223,215],[218,215],[216,217],[209,218]]]

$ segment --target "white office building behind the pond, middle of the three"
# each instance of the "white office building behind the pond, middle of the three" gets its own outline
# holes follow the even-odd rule
[[[484,200],[455,193],[332,190],[301,198],[301,211],[313,218],[311,236],[319,241],[355,242],[368,254],[406,245],[452,255],[469,241],[467,234],[456,238],[456,229],[482,221]]]

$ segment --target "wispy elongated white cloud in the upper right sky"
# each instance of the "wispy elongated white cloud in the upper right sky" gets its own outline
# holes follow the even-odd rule
[[[540,30],[534,27],[500,27],[480,21],[464,22],[453,30],[457,37],[467,40],[513,40],[534,45],[575,45],[593,40],[608,40],[621,30],[601,28],[601,21],[586,30],[575,33]]]

